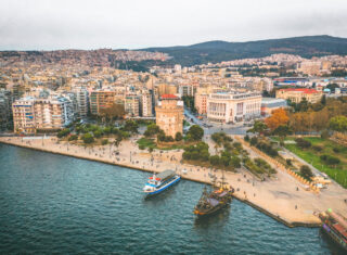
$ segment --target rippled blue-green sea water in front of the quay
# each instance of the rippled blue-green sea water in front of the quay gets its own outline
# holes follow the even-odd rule
[[[145,200],[149,173],[0,144],[0,254],[339,254],[234,200],[196,220],[203,184]]]

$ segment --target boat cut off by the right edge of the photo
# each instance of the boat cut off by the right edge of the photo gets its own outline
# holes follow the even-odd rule
[[[319,214],[322,230],[342,248],[347,251],[347,220],[332,209]]]

